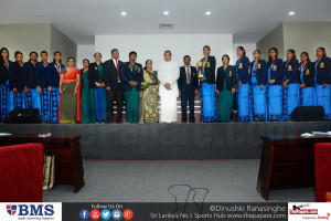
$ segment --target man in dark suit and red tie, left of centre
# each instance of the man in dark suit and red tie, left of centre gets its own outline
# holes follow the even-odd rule
[[[107,90],[107,122],[114,119],[113,106],[116,102],[117,116],[116,123],[121,123],[121,110],[124,106],[124,90],[120,85],[120,69],[122,62],[118,60],[119,52],[117,49],[111,50],[111,59],[104,63],[104,82]]]

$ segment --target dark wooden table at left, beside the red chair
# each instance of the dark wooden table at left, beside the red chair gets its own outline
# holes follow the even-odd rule
[[[34,135],[0,136],[0,146],[40,143],[55,156],[55,183],[73,185],[74,192],[85,186],[81,155],[81,135],[60,135],[41,138]]]

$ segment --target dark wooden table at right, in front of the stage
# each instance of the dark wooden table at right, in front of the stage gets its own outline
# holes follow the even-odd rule
[[[314,151],[317,143],[331,137],[302,138],[300,135],[261,136],[264,140],[257,179],[258,194],[269,199],[270,190],[314,187]]]

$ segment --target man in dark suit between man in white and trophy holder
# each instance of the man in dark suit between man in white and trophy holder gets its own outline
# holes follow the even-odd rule
[[[186,105],[189,101],[190,106],[190,123],[195,122],[194,117],[194,97],[197,93],[199,82],[196,69],[191,66],[191,57],[189,55],[184,56],[184,66],[180,67],[180,78],[178,80],[178,87],[181,95],[182,105],[182,123],[188,122]]]

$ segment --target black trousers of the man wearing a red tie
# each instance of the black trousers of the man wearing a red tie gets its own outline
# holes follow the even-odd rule
[[[108,123],[113,123],[114,119],[113,107],[115,102],[117,106],[116,123],[121,123],[121,112],[125,102],[125,95],[124,95],[124,91],[120,88],[119,85],[115,91],[107,91],[107,122]]]

